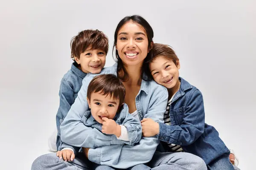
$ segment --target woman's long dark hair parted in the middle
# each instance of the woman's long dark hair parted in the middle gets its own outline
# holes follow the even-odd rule
[[[115,36],[114,36],[113,51],[114,51],[114,48],[115,48],[116,43],[117,43],[118,31],[122,28],[122,26],[124,26],[129,21],[132,21],[134,23],[140,24],[140,26],[142,26],[145,29],[145,32],[146,32],[147,37],[148,37],[148,51],[149,51],[149,53],[147,54],[146,58],[143,61],[142,71],[141,71],[142,79],[147,80],[147,79],[145,79],[145,77],[143,77],[143,71],[148,68],[148,67],[146,67],[146,65],[148,65],[147,62],[149,61],[150,55],[151,55],[151,42],[153,41],[154,32],[153,32],[153,29],[151,28],[151,26],[149,25],[149,23],[143,17],[141,17],[140,15],[127,16],[127,17],[124,17],[118,23],[118,25],[116,27],[116,31],[115,31]],[[112,51],[112,54],[113,54],[113,51]],[[119,72],[121,70],[124,72],[123,76],[119,77],[119,78],[122,81],[128,81],[128,79],[129,79],[128,73],[125,70],[125,67],[124,67],[124,65],[122,63],[122,60],[120,59],[120,57],[118,55],[118,51],[117,50],[116,50],[116,58],[113,56],[113,59],[117,62],[117,65],[118,65],[117,66],[117,72]]]

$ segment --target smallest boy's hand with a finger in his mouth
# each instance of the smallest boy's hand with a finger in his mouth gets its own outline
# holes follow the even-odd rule
[[[117,137],[121,135],[121,126],[117,125],[116,122],[112,119],[108,119],[107,117],[102,117],[104,121],[102,123],[102,132],[106,134],[114,134]]]

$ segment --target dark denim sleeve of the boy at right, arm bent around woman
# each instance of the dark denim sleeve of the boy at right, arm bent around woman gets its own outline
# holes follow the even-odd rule
[[[204,101],[197,89],[189,96],[181,125],[159,123],[158,139],[177,145],[189,145],[204,133]]]

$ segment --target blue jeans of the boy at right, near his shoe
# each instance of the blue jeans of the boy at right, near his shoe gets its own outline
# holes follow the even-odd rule
[[[207,165],[208,170],[235,170],[229,156],[223,155]]]

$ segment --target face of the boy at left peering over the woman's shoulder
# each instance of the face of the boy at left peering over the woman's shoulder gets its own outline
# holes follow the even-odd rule
[[[75,57],[78,64],[81,65],[81,70],[84,73],[100,73],[105,66],[106,53],[101,49],[87,49],[80,54],[80,58]]]

